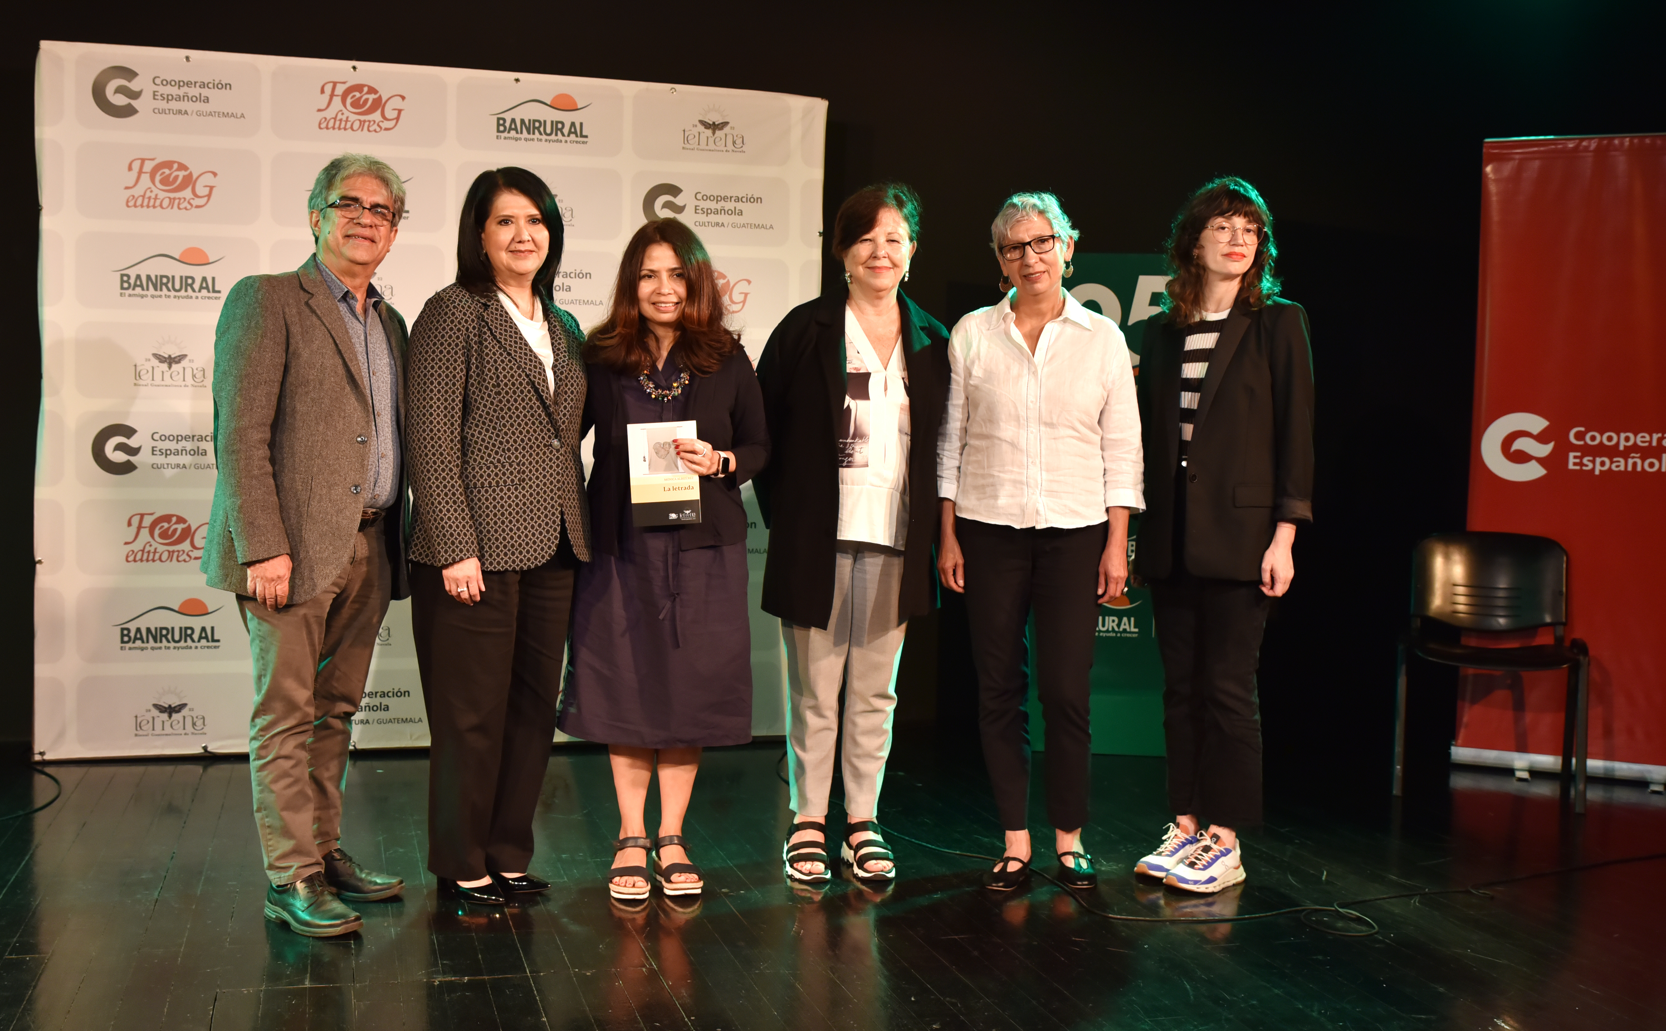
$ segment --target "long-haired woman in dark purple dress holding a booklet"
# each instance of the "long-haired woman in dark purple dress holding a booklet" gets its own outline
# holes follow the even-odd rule
[[[675,218],[636,230],[585,360],[585,428],[596,430],[593,556],[578,576],[558,726],[608,745],[620,804],[608,891],[645,898],[651,878],[666,894],[696,894],[705,881],[688,861],[683,814],[700,750],[751,741],[740,485],[768,463],[770,436],[751,361],[723,325],[711,258],[693,230]],[[700,476],[700,521],[640,528],[626,426],[686,420],[696,436],[673,445]],[[660,831],[650,843],[643,806],[655,771]]]

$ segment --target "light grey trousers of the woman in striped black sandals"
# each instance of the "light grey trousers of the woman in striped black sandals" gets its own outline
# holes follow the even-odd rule
[[[838,541],[835,563],[828,628],[781,621],[793,813],[813,819],[828,814],[840,686],[845,688],[845,811],[878,814],[885,760],[891,755],[896,663],[908,631],[896,618],[901,551]]]

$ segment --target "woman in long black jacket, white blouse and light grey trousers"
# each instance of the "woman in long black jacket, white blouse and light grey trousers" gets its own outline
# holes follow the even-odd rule
[[[936,436],[948,330],[908,300],[920,200],[853,193],[833,223],[845,290],[793,308],[758,358],[776,456],[755,483],[770,528],[763,611],[781,618],[793,824],[786,874],[826,883],[828,793],[843,706],[845,843],[861,879],[890,881],[878,801],[891,751],[896,656],[936,603]]]

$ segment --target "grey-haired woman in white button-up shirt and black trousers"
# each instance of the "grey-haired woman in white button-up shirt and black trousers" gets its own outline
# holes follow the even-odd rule
[[[1006,298],[950,335],[938,438],[938,576],[966,595],[978,723],[1006,831],[985,884],[1030,876],[1035,663],[1046,718],[1046,808],[1060,879],[1098,883],[1088,821],[1088,673],[1098,606],[1128,580],[1128,516],[1145,508],[1140,411],[1123,333],[1065,291],[1076,230],[1051,193],[1016,193],[991,227]]]

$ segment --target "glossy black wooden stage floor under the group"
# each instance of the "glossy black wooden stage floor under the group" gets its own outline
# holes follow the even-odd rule
[[[930,755],[898,746],[885,816],[988,851],[981,773]],[[0,1028],[1663,1026],[1659,861],[1373,904],[1383,933],[1363,939],[1296,918],[1116,924],[1046,883],[995,896],[976,861],[901,841],[890,894],[836,881],[816,898],[780,874],[778,756],[708,753],[688,826],[701,906],[626,913],[601,883],[616,831],[603,753],[556,751],[533,861],[556,886],[508,911],[436,898],[426,756],[360,753],[345,843],[410,888],[362,906],[363,933],[325,941],[262,916],[243,761],[52,766],[63,798],[0,824]],[[7,811],[28,806],[22,776],[0,774]],[[52,784],[37,779],[38,803]],[[1666,801],[1643,788],[1596,784],[1576,821],[1546,779],[1458,773],[1433,814],[1396,828],[1373,778],[1363,814],[1274,804],[1246,839],[1248,883],[1183,898],[1123,873],[1166,821],[1161,784],[1161,760],[1095,763],[1101,906],[1253,913],[1666,849]]]

